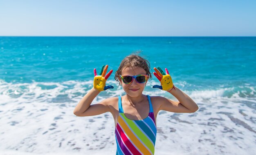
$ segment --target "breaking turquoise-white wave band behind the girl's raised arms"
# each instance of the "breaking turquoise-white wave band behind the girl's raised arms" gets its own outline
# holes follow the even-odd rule
[[[92,83],[92,80],[33,83],[8,83],[0,80],[0,98],[2,101],[7,101],[8,98],[23,98],[39,102],[47,101],[48,103],[77,102],[81,99],[81,96],[92,88]],[[97,96],[97,100],[125,94],[122,87],[118,86],[117,81],[108,81],[107,84],[113,85],[115,88],[101,92],[101,95]],[[159,83],[156,81],[150,81],[145,88],[145,93],[152,96],[170,96],[164,91],[152,88],[153,85],[157,84]],[[256,87],[250,85],[191,89],[191,87],[189,87],[191,84],[186,83],[186,81],[180,81],[176,83],[175,86],[194,99],[205,100],[218,97],[256,98]]]

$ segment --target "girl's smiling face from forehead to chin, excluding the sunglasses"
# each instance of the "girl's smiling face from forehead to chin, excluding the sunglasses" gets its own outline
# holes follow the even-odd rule
[[[122,76],[124,76],[124,75],[141,75],[141,74],[146,74],[146,71],[140,67],[124,68],[122,71]],[[145,83],[137,83],[137,81],[135,79],[133,79],[132,83],[130,83],[130,84],[124,83],[121,78],[119,78],[119,81],[121,81],[121,85],[123,86],[126,94],[128,94],[131,97],[138,97],[138,96],[141,96],[148,79],[146,80]]]

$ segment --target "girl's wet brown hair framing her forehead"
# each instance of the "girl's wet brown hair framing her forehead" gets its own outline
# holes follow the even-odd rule
[[[152,78],[151,73],[150,73],[150,64],[149,64],[148,60],[140,57],[139,55],[129,55],[121,61],[118,70],[115,72],[115,80],[118,81],[119,85],[120,85],[119,77],[122,73],[122,70],[127,67],[143,68],[146,71],[146,74],[148,75],[148,79]]]

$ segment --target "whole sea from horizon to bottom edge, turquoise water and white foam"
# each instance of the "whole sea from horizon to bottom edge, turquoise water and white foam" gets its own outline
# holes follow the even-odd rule
[[[94,68],[114,72],[137,54],[168,68],[176,87],[198,104],[195,113],[159,111],[155,155],[255,155],[256,37],[0,37],[0,154],[115,155],[110,112],[77,117],[93,87]],[[99,103],[125,92],[101,92]],[[153,89],[144,94],[177,100]]]

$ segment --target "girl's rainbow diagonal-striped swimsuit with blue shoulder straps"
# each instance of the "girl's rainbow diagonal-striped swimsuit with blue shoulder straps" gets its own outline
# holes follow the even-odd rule
[[[148,95],[147,95],[148,96]],[[130,120],[124,115],[121,96],[119,96],[119,116],[115,137],[117,141],[116,155],[153,155],[157,127],[153,107],[148,96],[149,114],[143,120]]]

